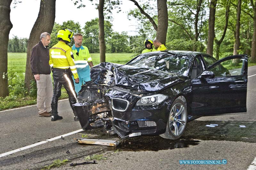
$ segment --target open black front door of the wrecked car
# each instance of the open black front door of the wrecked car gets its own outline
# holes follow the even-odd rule
[[[212,64],[191,80],[192,114],[246,112],[247,70],[247,55],[232,55]]]

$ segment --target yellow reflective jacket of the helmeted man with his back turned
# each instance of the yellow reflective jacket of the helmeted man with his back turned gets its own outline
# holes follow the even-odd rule
[[[71,48],[62,41],[55,44],[49,51],[50,61],[49,64],[53,68],[68,69],[72,71],[74,78],[78,78],[76,65],[71,55],[73,55]]]

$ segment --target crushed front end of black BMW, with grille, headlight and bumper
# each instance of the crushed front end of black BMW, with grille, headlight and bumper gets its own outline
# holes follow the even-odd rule
[[[164,133],[170,99],[167,101],[168,96],[157,94],[154,88],[161,89],[166,85],[163,83],[138,84],[138,81],[142,81],[138,77],[144,78],[143,82],[148,80],[144,75],[139,75],[140,72],[147,72],[147,74],[154,72],[138,70],[136,73],[136,70],[132,70],[135,72],[132,76],[136,76],[133,80],[132,76],[124,74],[128,74],[127,71],[120,71],[126,68],[118,70],[120,66],[122,65],[101,63],[92,68],[92,81],[82,86],[78,102],[75,104],[82,128],[92,129],[104,126],[108,131],[114,130],[122,138],[129,135]],[[157,74],[162,75],[162,73]],[[170,81],[171,78],[168,78]]]

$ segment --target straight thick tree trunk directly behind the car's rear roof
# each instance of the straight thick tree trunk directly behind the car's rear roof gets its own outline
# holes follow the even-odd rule
[[[213,42],[214,42],[214,27],[215,27],[215,12],[216,4],[218,0],[211,0],[210,3],[210,15],[209,15],[209,24],[208,24],[208,41],[206,53],[213,55]]]

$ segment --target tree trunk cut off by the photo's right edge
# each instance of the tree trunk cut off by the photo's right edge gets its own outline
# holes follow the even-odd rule
[[[253,1],[251,1],[252,7],[253,7],[253,35],[252,35],[252,51],[251,51],[251,61],[255,62],[256,58],[256,1],[253,4]]]

